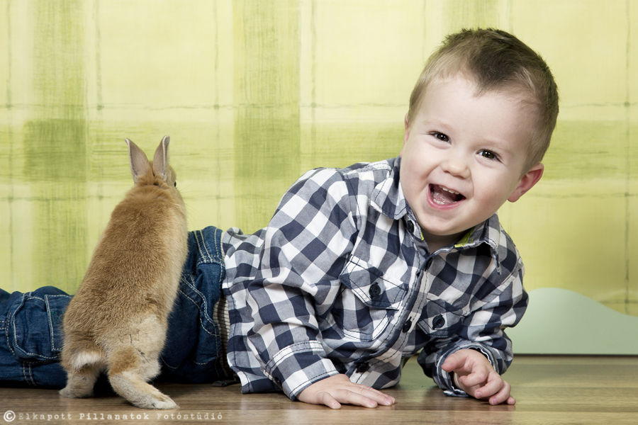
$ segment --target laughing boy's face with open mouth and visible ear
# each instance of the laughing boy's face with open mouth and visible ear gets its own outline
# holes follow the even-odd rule
[[[523,169],[533,110],[508,93],[475,93],[464,77],[435,81],[405,121],[401,186],[430,249],[457,242],[542,176],[542,164]]]

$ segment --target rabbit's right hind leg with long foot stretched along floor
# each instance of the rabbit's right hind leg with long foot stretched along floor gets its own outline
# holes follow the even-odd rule
[[[141,409],[176,409],[177,404],[163,392],[145,382],[157,374],[157,357],[149,359],[133,346],[109,358],[108,381],[119,395]]]

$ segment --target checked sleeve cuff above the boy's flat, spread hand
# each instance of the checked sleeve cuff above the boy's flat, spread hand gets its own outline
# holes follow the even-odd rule
[[[323,352],[318,341],[287,346],[267,363],[264,375],[295,400],[308,386],[339,373],[332,361],[319,354]]]

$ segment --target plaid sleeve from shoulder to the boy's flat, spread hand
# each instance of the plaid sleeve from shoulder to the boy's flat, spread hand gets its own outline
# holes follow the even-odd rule
[[[248,344],[264,375],[291,399],[338,372],[320,341],[320,317],[340,290],[356,232],[347,183],[336,170],[308,171],[286,192],[266,230],[248,286]]]

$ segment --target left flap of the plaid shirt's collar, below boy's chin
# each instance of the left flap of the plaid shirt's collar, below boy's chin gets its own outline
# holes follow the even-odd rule
[[[405,202],[401,181],[399,181],[401,157],[388,159],[388,164],[391,166],[390,172],[386,179],[374,187],[370,197],[370,204],[372,208],[387,217],[398,220],[408,212],[408,203]]]

